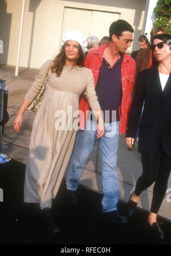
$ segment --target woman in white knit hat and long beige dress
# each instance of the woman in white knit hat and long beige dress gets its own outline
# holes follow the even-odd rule
[[[14,129],[19,133],[22,115],[48,74],[43,100],[32,125],[24,195],[25,202],[39,204],[47,231],[52,234],[60,232],[51,213],[52,199],[58,193],[74,147],[79,121],[75,113],[79,110],[79,96],[83,91],[98,121],[96,136],[100,138],[104,134],[93,75],[84,66],[86,46],[82,32],[72,30],[65,35],[60,53],[43,64],[14,121]]]

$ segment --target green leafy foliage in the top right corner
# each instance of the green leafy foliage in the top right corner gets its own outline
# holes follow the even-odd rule
[[[171,0],[158,0],[153,12],[156,16],[153,27],[163,26],[171,35]]]

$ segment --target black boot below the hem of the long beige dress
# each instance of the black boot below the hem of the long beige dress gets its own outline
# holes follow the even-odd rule
[[[44,218],[46,220],[46,229],[47,233],[50,234],[56,234],[60,233],[59,227],[56,225],[52,214],[51,214],[51,209],[50,208],[44,208],[43,210]]]

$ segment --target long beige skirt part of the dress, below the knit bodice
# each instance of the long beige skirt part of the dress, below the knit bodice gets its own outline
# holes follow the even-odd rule
[[[51,207],[74,147],[76,129],[68,130],[68,123],[77,122],[68,115],[68,106],[78,110],[78,97],[63,91],[46,89],[40,109],[36,113],[28,151],[25,202]],[[60,130],[59,112],[66,112],[66,129]],[[61,117],[61,116],[60,116]],[[70,120],[70,121],[68,121]],[[75,126],[76,127],[76,126]]]

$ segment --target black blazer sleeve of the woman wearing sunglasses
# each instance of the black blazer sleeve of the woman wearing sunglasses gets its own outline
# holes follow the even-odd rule
[[[135,138],[139,128],[141,111],[145,100],[147,70],[139,73],[135,84],[135,95],[129,112],[126,137]]]

